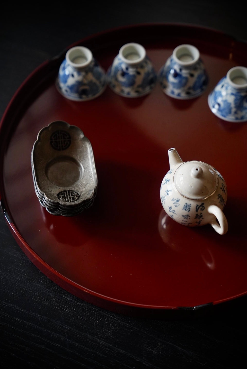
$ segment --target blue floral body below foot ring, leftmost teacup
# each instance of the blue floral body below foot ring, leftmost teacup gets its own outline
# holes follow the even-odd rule
[[[106,75],[94,58],[82,69],[73,67],[64,59],[59,68],[56,86],[70,100],[91,100],[103,93]]]

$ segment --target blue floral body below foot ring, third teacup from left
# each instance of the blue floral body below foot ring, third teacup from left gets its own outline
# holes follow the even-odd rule
[[[179,65],[172,56],[159,70],[158,80],[162,90],[176,99],[200,96],[208,85],[207,72],[201,59],[185,67]]]

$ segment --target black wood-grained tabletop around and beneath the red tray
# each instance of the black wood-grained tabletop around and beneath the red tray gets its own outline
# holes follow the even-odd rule
[[[1,8],[0,116],[42,62],[102,30],[169,22],[247,39],[243,7],[215,1],[38,4]],[[237,10],[237,13],[235,11]],[[130,317],[88,304],[25,256],[0,213],[1,368],[237,368],[246,357],[247,298],[211,311]],[[243,364],[244,365],[244,364]]]

